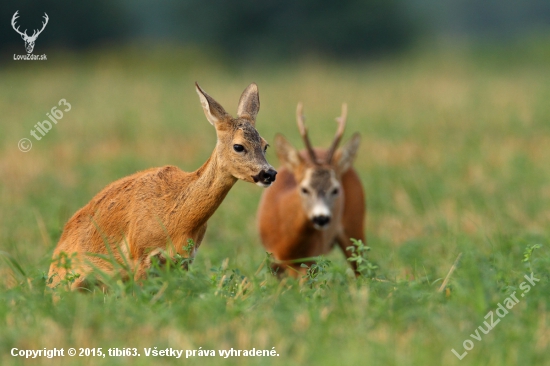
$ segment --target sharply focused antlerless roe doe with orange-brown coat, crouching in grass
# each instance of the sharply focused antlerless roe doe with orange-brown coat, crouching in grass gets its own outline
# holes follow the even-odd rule
[[[260,108],[257,85],[250,84],[242,93],[236,118],[197,83],[195,87],[217,134],[211,156],[194,172],[163,166],[107,185],[65,225],[53,252],[50,287],[66,284],[71,290],[89,289],[101,282],[87,279],[97,269],[108,276],[120,273],[126,280],[133,274],[140,280],[153,257],[160,263],[176,254],[192,260],[208,219],[237,180],[264,188],[275,181],[277,171],[265,156],[267,141],[255,127]],[[130,270],[115,269],[105,256],[128,263]],[[73,280],[67,281],[67,276]]]

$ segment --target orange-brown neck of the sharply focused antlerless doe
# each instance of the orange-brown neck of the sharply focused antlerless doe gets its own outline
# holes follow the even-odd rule
[[[191,232],[200,229],[220,206],[237,178],[223,169],[216,150],[196,171],[179,196],[179,227]]]

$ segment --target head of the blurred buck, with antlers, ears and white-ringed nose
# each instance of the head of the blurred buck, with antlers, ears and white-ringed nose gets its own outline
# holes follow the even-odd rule
[[[329,227],[334,207],[343,204],[341,176],[352,165],[359,148],[359,134],[354,134],[351,140],[338,149],[346,125],[347,106],[342,105],[342,115],[336,118],[338,130],[328,150],[315,150],[309,140],[304,124],[302,104],[298,104],[296,120],[300,135],[306,146],[305,154],[301,154],[283,136],[275,140],[279,160],[290,169],[297,183],[302,207],[318,230]]]

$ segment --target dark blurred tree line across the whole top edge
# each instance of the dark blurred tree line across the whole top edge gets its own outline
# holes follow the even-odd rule
[[[304,55],[339,59],[410,49],[426,40],[506,43],[550,29],[545,0],[2,1],[0,51],[22,53],[21,30],[50,17],[35,53],[136,42],[166,43],[243,61]],[[52,55],[53,56],[53,55]],[[0,63],[5,63],[3,57]]]

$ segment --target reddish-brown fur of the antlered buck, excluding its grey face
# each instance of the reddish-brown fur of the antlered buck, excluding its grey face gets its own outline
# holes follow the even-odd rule
[[[285,261],[326,255],[335,244],[349,258],[351,252],[346,248],[352,245],[350,238],[365,242],[365,196],[359,176],[351,167],[359,144],[358,135],[354,136],[348,146],[336,151],[331,163],[327,163],[329,150],[314,149],[313,154],[303,150],[298,153],[282,138],[277,139],[276,144],[282,166],[278,169],[277,181],[263,193],[258,207],[262,244],[278,262],[273,267],[280,273],[292,268],[294,271],[288,273],[296,275],[303,270],[300,268],[302,262]],[[317,164],[312,162],[312,155],[316,157]],[[319,164],[319,161],[324,163]],[[314,227],[300,195],[300,183],[305,179],[308,169],[332,170],[342,190],[334,201],[331,221],[324,230]],[[312,185],[322,186],[320,182]],[[351,266],[356,270],[354,262]]]

